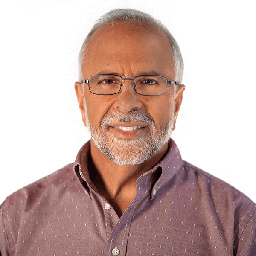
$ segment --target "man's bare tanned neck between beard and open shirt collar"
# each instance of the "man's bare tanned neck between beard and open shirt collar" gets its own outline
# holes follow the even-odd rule
[[[110,202],[120,217],[136,195],[137,178],[152,169],[163,158],[168,149],[168,143],[144,163],[133,166],[114,163],[102,154],[92,140],[90,143],[90,179],[98,192]]]

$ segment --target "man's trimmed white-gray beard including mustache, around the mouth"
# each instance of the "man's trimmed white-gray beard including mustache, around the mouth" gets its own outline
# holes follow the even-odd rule
[[[86,107],[85,118],[93,143],[106,157],[119,165],[140,164],[156,154],[168,142],[174,124],[172,114],[169,122],[156,127],[154,119],[141,110],[109,112],[102,118],[99,128],[89,122]],[[121,139],[108,132],[113,122],[143,122],[148,125],[147,132],[138,139]]]

